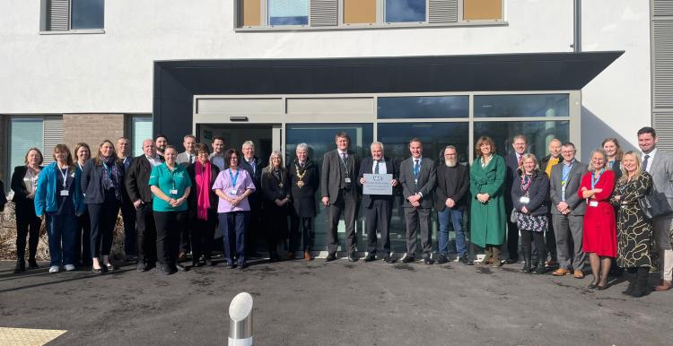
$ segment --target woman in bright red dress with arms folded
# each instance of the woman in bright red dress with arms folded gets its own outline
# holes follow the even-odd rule
[[[615,174],[606,168],[607,153],[602,149],[591,152],[589,172],[581,178],[579,195],[587,203],[584,213],[582,247],[591,264],[590,289],[607,289],[607,273],[612,257],[616,257],[615,209],[609,198],[615,188]]]

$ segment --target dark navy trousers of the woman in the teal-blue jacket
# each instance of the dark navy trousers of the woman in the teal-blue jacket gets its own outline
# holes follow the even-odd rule
[[[77,242],[77,217],[74,214],[47,215],[49,265],[74,264]],[[61,254],[63,253],[63,254]]]

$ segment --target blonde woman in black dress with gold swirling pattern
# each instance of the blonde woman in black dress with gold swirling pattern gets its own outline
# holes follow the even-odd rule
[[[616,263],[635,278],[622,293],[640,298],[650,290],[647,279],[651,267],[652,223],[645,218],[638,198],[649,195],[652,177],[642,170],[641,157],[628,151],[622,159],[622,177],[617,181],[615,194],[610,199],[618,207]]]

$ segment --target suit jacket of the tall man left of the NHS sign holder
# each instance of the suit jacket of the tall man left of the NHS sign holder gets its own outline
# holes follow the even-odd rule
[[[325,153],[322,159],[322,170],[320,171],[320,195],[329,197],[329,203],[337,202],[339,195],[339,183],[345,179],[341,177],[340,169],[341,158],[336,149]],[[357,193],[357,173],[360,171],[360,158],[354,151],[348,151],[348,170],[351,177],[350,193],[358,196]]]

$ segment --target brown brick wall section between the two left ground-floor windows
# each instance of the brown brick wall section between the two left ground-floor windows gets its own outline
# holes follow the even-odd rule
[[[95,155],[104,139],[117,143],[117,139],[123,135],[123,114],[63,115],[63,141],[71,150],[74,150],[75,144],[84,142],[89,144],[92,155]]]

